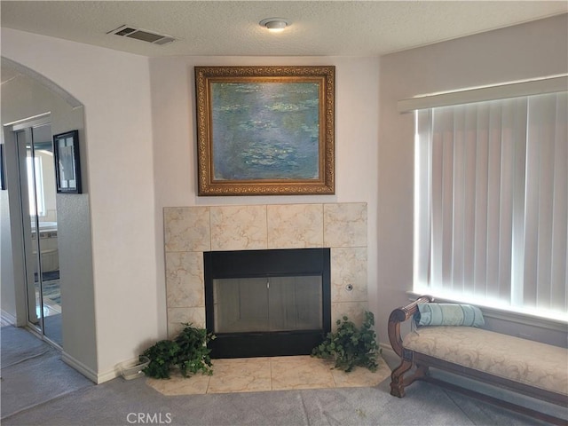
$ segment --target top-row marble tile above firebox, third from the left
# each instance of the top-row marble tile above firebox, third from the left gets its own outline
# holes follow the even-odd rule
[[[266,208],[268,248],[323,247],[323,205],[282,204]]]

